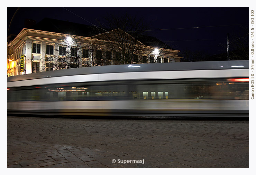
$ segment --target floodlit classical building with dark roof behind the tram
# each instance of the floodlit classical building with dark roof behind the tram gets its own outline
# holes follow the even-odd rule
[[[117,39],[120,33],[122,37]],[[22,29],[14,39],[10,37],[7,76],[87,66],[180,62],[182,58],[177,55],[179,50],[155,37],[135,38],[121,29],[107,31],[49,18]]]

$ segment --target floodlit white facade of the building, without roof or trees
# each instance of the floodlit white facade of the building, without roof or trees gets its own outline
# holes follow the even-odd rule
[[[87,44],[99,43],[100,41],[99,38],[81,36],[78,37],[81,38],[81,42]],[[56,63],[59,65],[59,67],[56,68],[53,66],[53,62],[49,61],[49,58],[51,57],[65,57],[66,53],[70,51],[63,42],[63,38],[72,40],[72,36],[63,33],[55,33],[25,28],[22,29],[15,39],[7,43],[7,76],[17,76],[41,71],[67,68],[67,63]],[[155,55],[157,53],[155,52],[157,52],[158,49],[161,48],[151,47],[150,54],[144,57],[143,55],[145,55],[146,51],[143,51],[143,49],[141,49],[141,52],[139,52],[136,57],[141,58],[140,63],[180,62],[181,57],[177,55],[179,50],[172,49],[165,49],[166,54],[159,57],[158,60],[156,60],[157,58]],[[113,53],[111,52],[108,52],[106,47],[102,44],[99,45],[98,51],[95,53],[92,53],[90,51],[88,52],[88,50],[90,50],[90,48],[81,48],[81,58],[79,61],[79,64],[81,65],[79,65],[79,67],[84,67],[82,64],[85,60],[89,62],[89,64],[91,64],[87,66],[93,66],[93,54],[95,55],[99,53],[99,51],[100,53],[106,53],[104,58],[110,57],[111,59],[115,57],[115,55],[113,55]],[[71,54],[73,54],[72,51],[73,50],[71,49]],[[86,51],[87,54],[84,53]],[[22,55],[24,55],[24,67],[22,67]],[[72,65],[72,60],[70,61],[70,64]],[[103,63],[102,65],[104,64],[106,65],[106,63]],[[110,64],[115,65],[116,62],[112,61],[110,62]],[[24,69],[23,71],[22,68]]]

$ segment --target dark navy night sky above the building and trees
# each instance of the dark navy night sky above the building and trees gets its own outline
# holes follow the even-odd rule
[[[108,14],[128,13],[143,17],[155,36],[177,50],[202,50],[209,54],[225,51],[221,44],[248,33],[249,7],[7,7],[8,34],[18,34],[25,19],[39,22],[45,17],[97,25]],[[16,12],[16,14],[15,14]],[[86,22],[83,19],[90,21]],[[15,14],[15,15],[14,15]],[[14,15],[14,16],[13,16]],[[13,19],[12,19],[13,18]],[[12,19],[12,21],[11,21]],[[11,23],[10,23],[11,21]],[[9,28],[10,26],[10,28]],[[209,27],[216,26],[216,27]],[[200,27],[200,28],[193,28]],[[183,28],[183,29],[180,29]],[[170,29],[170,30],[159,30]],[[247,31],[246,31],[247,29]],[[233,37],[233,38],[232,38]]]

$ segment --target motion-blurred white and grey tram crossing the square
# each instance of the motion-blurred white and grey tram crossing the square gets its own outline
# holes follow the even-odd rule
[[[249,61],[82,67],[7,77],[7,113],[249,116]]]

